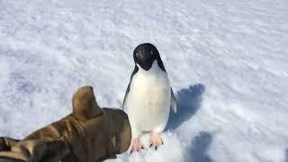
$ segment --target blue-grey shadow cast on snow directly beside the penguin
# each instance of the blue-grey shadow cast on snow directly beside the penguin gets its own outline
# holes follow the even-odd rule
[[[177,112],[170,111],[166,130],[175,130],[199,110],[204,91],[205,86],[202,84],[190,85],[188,88],[177,91],[175,94]]]

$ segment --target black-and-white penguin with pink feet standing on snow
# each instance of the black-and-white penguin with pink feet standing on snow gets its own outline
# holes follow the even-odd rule
[[[145,133],[150,134],[150,147],[163,144],[160,133],[166,128],[170,107],[176,112],[175,94],[157,48],[140,44],[133,58],[135,67],[122,105],[132,130],[130,153],[144,148],[140,137]]]

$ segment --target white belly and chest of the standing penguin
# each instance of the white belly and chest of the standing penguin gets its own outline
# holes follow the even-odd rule
[[[162,131],[168,120],[170,100],[171,89],[166,73],[161,69],[139,69],[131,80],[124,110],[133,122],[131,126],[137,130]]]

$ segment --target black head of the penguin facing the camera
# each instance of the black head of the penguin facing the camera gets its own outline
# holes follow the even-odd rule
[[[155,60],[158,65],[165,71],[159,52],[153,44],[144,43],[134,49],[133,58],[136,64],[148,71]]]

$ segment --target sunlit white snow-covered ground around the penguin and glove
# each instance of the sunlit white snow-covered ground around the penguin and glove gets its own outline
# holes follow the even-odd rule
[[[179,112],[163,147],[115,161],[288,160],[287,0],[0,0],[0,136],[64,117],[82,85],[120,108],[142,42]]]

